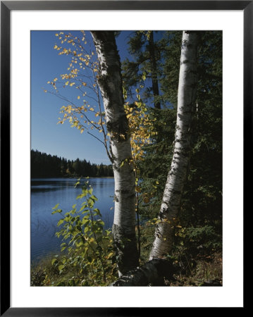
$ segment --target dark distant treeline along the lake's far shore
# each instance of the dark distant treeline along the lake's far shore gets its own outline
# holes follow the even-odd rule
[[[109,177],[113,176],[111,165],[94,164],[90,161],[76,159],[70,161],[56,155],[31,151],[31,177],[32,178],[61,178],[70,176],[82,177]]]

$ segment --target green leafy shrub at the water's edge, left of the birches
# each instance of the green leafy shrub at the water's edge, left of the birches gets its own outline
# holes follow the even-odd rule
[[[75,186],[79,185],[77,182]],[[82,193],[77,199],[83,199],[78,210],[76,204],[65,213],[57,226],[57,237],[61,237],[61,256],[55,256],[51,265],[58,269],[57,282],[44,280],[44,284],[56,286],[98,286],[107,285],[114,280],[116,274],[115,254],[110,230],[104,230],[99,209],[94,208],[97,197],[88,182],[82,187]],[[58,204],[54,213],[62,213]],[[69,276],[68,272],[75,274]]]

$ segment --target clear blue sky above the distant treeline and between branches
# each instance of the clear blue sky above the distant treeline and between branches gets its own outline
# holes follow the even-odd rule
[[[94,137],[76,128],[70,128],[66,121],[58,124],[59,109],[64,101],[45,93],[47,82],[67,73],[69,56],[58,56],[54,49],[59,44],[54,31],[31,32],[31,148],[66,159],[86,159],[92,163],[110,163],[103,145]],[[68,31],[66,31],[68,32]],[[70,31],[80,37],[80,32]],[[90,32],[85,32],[87,42],[92,42]],[[128,56],[127,42],[130,32],[121,32],[117,46],[121,58]],[[66,91],[68,97],[72,98]]]

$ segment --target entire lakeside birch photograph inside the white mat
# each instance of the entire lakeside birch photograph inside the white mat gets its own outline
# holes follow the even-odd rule
[[[223,287],[223,30],[30,30],[30,287]]]

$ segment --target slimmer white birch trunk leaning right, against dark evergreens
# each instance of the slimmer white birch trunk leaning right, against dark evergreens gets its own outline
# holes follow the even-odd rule
[[[175,145],[168,172],[159,223],[149,259],[162,258],[173,247],[180,198],[190,159],[190,123],[197,90],[197,32],[183,32],[178,83],[178,113]]]

